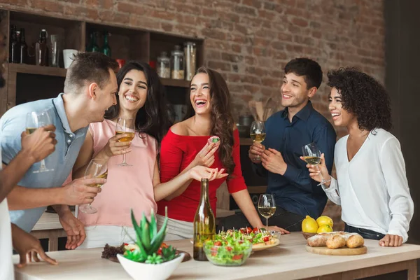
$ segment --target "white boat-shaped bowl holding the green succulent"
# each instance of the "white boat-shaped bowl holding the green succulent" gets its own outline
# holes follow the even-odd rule
[[[174,272],[176,267],[182,262],[184,253],[180,253],[178,258],[163,262],[159,265],[151,265],[143,262],[133,262],[123,255],[118,254],[117,258],[120,264],[123,265],[125,271],[132,276],[134,280],[165,280]]]

